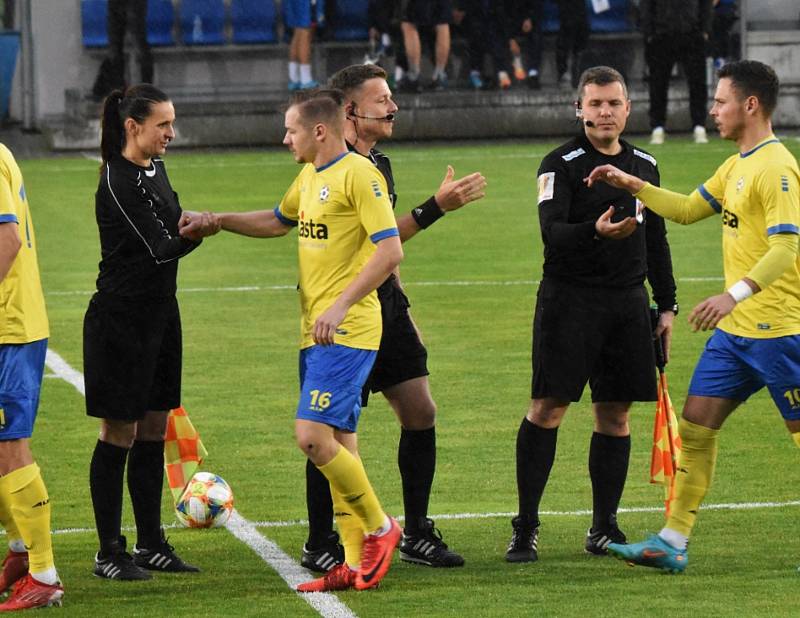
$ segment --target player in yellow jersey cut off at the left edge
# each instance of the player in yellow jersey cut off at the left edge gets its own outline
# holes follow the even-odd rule
[[[22,173],[0,144],[0,524],[8,554],[0,612],[61,605],[53,562],[50,498],[29,439],[33,433],[50,336],[39,281],[36,237]]]

